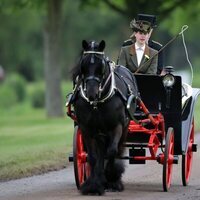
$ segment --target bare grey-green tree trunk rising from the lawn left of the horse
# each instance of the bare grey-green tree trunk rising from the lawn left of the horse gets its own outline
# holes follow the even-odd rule
[[[47,0],[44,30],[45,103],[48,117],[63,115],[61,94],[60,39],[62,0]]]

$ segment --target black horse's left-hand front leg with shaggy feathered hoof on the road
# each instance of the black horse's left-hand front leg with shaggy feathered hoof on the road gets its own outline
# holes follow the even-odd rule
[[[104,193],[104,145],[100,141],[87,138],[86,146],[88,150],[88,162],[90,164],[90,177],[83,183],[80,190],[82,194]]]

